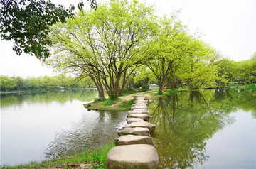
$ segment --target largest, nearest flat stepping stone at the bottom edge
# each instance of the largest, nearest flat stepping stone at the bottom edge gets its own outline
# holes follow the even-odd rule
[[[107,168],[155,169],[159,165],[156,148],[147,144],[117,146],[107,153]]]

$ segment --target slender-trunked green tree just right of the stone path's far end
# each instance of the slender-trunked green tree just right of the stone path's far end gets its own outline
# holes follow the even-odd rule
[[[159,32],[154,36],[154,40],[149,41],[145,48],[146,65],[156,77],[159,84],[159,94],[162,94],[164,84],[174,66],[174,62],[179,62],[183,58],[183,50],[191,37],[186,33],[185,27],[176,19],[163,18],[159,21]]]

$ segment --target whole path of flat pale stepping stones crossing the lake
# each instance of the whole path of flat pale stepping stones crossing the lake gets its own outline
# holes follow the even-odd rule
[[[150,119],[148,100],[143,94],[135,95],[131,109],[127,115],[128,124],[117,131],[120,137],[115,139],[116,147],[107,153],[107,168],[157,168],[159,156],[150,137],[156,125],[146,122]]]

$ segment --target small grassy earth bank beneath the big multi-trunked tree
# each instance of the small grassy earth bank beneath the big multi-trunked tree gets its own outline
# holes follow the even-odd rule
[[[154,91],[145,91],[141,92],[143,94],[148,94]],[[131,109],[132,104],[134,103],[134,94],[122,94],[117,99],[96,99],[95,102],[84,104],[84,107],[88,110],[97,110],[97,111],[128,111]]]

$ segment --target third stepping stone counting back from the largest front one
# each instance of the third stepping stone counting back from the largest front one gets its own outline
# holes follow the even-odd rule
[[[150,136],[149,129],[144,127],[136,127],[136,128],[125,128],[117,131],[118,136],[124,135],[137,135],[137,136]]]

